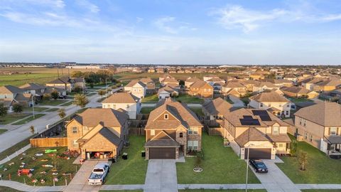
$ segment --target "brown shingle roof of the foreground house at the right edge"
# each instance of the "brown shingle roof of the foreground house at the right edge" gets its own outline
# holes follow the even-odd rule
[[[318,102],[298,110],[295,115],[322,126],[341,126],[341,105],[336,102]]]

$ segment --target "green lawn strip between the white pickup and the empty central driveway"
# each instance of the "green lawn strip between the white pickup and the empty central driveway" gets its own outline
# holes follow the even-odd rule
[[[128,159],[123,160],[119,157],[117,163],[112,164],[110,172],[107,176],[106,185],[108,184],[144,184],[148,161],[141,156],[144,150],[144,136],[130,136],[130,146],[124,149],[128,154]]]

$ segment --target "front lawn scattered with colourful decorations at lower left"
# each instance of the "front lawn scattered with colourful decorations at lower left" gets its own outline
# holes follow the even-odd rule
[[[57,149],[55,152],[55,156],[49,156],[44,153],[45,149]],[[72,164],[75,161],[75,157],[71,157],[70,159],[62,159],[58,158],[58,156],[64,156],[63,152],[67,149],[67,147],[51,147],[51,148],[30,148],[25,151],[26,155],[19,155],[16,158],[12,159],[9,162],[14,162],[13,165],[9,166],[9,162],[3,165],[3,169],[0,170],[0,173],[3,175],[4,180],[9,179],[9,174],[11,174],[12,181],[18,181],[23,183],[23,178],[26,180],[26,184],[33,186],[32,179],[36,178],[39,182],[36,183],[36,186],[53,186],[53,176],[51,167],[43,167],[44,164],[56,165],[58,175],[56,176],[59,181],[55,182],[55,185],[62,186],[65,185],[65,178],[67,179],[67,183],[70,183],[70,176],[63,176],[63,173],[71,173],[72,176],[75,176],[76,169],[79,170],[80,165]],[[43,153],[43,156],[35,156],[37,153]],[[23,160],[20,158],[23,157]],[[33,160],[33,157],[36,160]],[[47,159],[48,161],[41,161],[42,159]],[[21,169],[19,166],[21,162],[26,163],[25,169],[34,169],[32,178],[28,178],[28,176],[22,175],[18,176],[17,171]],[[77,168],[76,168],[77,167]],[[4,171],[4,168],[8,169]],[[40,174],[40,172],[46,171],[47,174]],[[40,179],[44,179],[45,183],[40,183]]]

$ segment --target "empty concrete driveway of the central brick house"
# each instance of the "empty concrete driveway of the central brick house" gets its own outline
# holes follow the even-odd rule
[[[151,159],[148,161],[145,192],[177,192],[178,181],[174,159]]]

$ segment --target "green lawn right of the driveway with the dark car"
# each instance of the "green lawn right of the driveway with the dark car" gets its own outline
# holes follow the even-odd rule
[[[293,183],[341,183],[340,160],[330,159],[306,142],[298,142],[298,150],[308,154],[306,171],[300,171],[297,157],[281,157],[284,164],[277,164]]]

